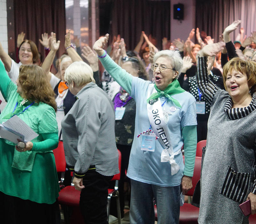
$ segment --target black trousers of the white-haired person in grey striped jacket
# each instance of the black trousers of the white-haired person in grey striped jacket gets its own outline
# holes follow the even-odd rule
[[[85,188],[80,195],[80,210],[85,224],[108,224],[108,186],[112,178],[98,172],[86,172],[83,178]]]

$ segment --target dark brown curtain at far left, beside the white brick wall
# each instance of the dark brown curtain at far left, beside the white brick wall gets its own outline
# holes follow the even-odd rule
[[[53,31],[56,33],[57,40],[60,40],[57,56],[60,56],[65,51],[65,0],[14,0],[13,5],[15,40],[17,40],[19,33],[25,32],[25,38],[34,41],[38,51],[44,57],[44,47],[38,39],[42,39],[42,33],[46,32],[50,35]]]

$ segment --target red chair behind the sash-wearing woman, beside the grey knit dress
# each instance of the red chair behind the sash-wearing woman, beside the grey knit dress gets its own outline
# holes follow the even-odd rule
[[[183,156],[184,160],[184,156]],[[202,157],[196,156],[195,160],[195,168],[194,168],[194,175],[192,177],[192,184],[193,187],[188,191],[186,194],[187,196],[193,196],[196,183],[200,179],[200,174],[201,174],[201,160]],[[157,221],[157,207],[155,205],[155,220]],[[180,206],[180,224],[197,224],[197,219],[199,215],[199,208],[192,204],[184,203],[183,206]]]

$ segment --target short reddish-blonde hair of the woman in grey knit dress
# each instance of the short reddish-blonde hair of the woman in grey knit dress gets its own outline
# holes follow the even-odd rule
[[[223,83],[227,90],[226,80],[228,72],[232,69],[247,76],[247,82],[252,93],[256,91],[256,63],[254,61],[242,60],[238,57],[232,58],[223,66]]]

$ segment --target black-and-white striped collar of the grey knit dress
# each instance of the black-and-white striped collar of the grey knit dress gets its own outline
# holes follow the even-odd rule
[[[224,106],[224,112],[228,116],[228,119],[230,120],[236,120],[243,118],[247,115],[249,115],[253,110],[256,108],[256,97],[255,93],[252,95],[252,101],[249,104],[249,106],[244,107],[244,108],[232,108],[233,102],[231,97],[228,97],[228,100],[225,103]]]

